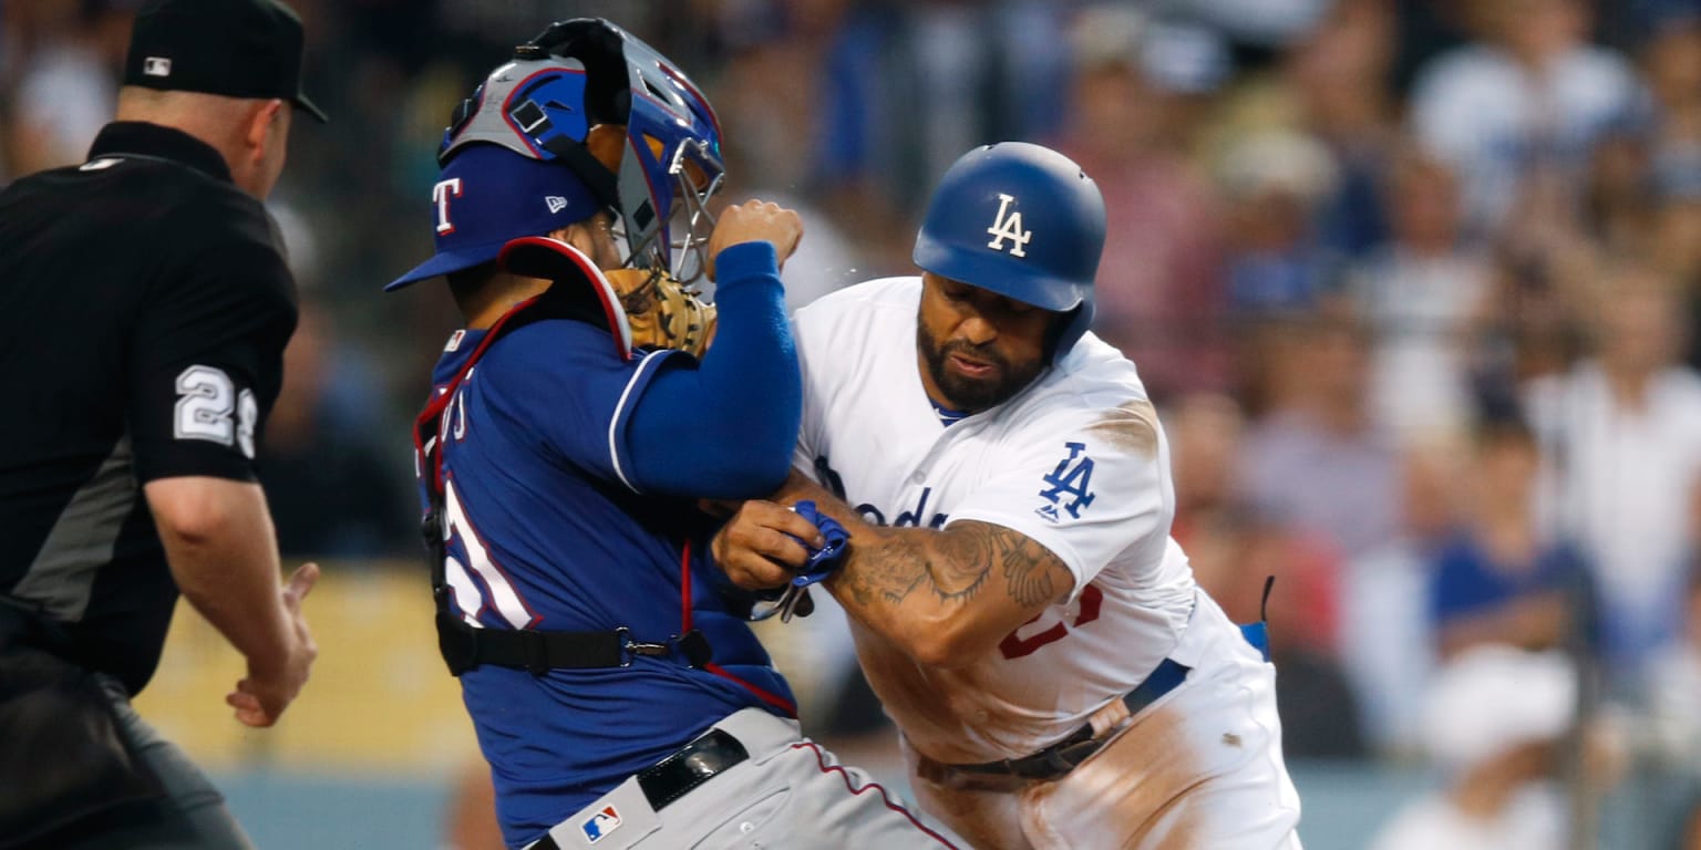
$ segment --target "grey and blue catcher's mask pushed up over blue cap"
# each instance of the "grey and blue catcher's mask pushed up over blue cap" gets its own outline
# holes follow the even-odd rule
[[[626,126],[617,168],[587,148],[599,124]],[[723,178],[720,119],[684,71],[624,29],[560,20],[521,44],[456,110],[437,160],[480,143],[570,167],[616,214],[629,265],[701,274],[714,224],[706,204]]]

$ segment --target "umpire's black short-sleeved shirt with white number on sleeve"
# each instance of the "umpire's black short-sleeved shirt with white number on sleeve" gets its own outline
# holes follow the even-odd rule
[[[265,207],[185,133],[107,124],[0,192],[0,593],[131,694],[177,600],[141,484],[253,479],[294,325]]]

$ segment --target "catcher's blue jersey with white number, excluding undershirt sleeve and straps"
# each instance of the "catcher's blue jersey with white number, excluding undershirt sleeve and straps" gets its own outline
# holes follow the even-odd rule
[[[483,333],[451,338],[434,396]],[[648,643],[696,627],[713,646],[701,670],[675,653],[624,668],[461,675],[515,847],[726,714],[794,714],[767,653],[714,592],[713,527],[689,503],[634,488],[626,422],[657,371],[686,362],[674,357],[621,360],[600,328],[534,321],[485,350],[437,428],[451,614],[486,629],[624,627]]]

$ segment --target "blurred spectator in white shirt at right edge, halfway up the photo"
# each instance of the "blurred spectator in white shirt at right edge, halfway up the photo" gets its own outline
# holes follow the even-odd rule
[[[1592,566],[1618,687],[1633,687],[1682,622],[1701,376],[1677,362],[1679,304],[1669,277],[1613,269],[1592,304],[1594,355],[1526,391],[1551,476],[1545,530],[1573,534]]]

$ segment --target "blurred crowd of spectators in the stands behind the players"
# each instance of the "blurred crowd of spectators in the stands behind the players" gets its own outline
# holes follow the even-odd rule
[[[133,5],[0,0],[0,180],[82,160]],[[272,204],[304,303],[265,449],[287,552],[415,552],[405,423],[452,306],[379,286],[430,250],[459,99],[607,15],[704,85],[726,199],[805,214],[793,304],[908,272],[976,143],[1082,163],[1095,330],[1160,403],[1201,583],[1269,617],[1293,758],[1444,760],[1431,685],[1514,648],[1568,687],[1466,716],[1563,699],[1701,770],[1701,0],[291,5],[333,122]]]

